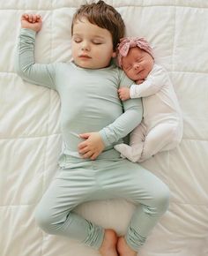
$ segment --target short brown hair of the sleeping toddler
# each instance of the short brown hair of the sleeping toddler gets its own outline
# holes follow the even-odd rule
[[[121,14],[116,11],[113,6],[101,0],[97,4],[81,5],[72,19],[71,35],[73,34],[75,22],[82,18],[88,19],[88,21],[94,25],[107,29],[112,35],[114,51],[116,50],[117,44],[124,36],[125,25]]]

